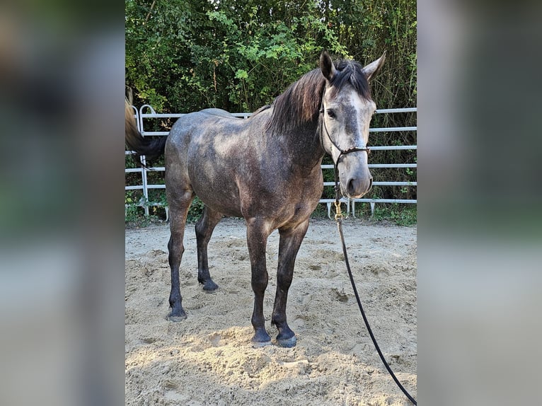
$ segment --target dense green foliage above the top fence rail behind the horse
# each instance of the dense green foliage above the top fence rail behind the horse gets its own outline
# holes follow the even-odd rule
[[[254,111],[322,50],[370,62],[379,107],[415,105],[414,0],[125,0],[126,84],[157,111]]]

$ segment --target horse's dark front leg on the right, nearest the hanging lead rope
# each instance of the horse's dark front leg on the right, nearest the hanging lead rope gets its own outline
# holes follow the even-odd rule
[[[295,333],[290,329],[286,321],[286,303],[288,290],[292,284],[294,264],[296,256],[309,228],[309,219],[295,228],[279,229],[279,265],[277,269],[277,294],[271,324],[279,330],[277,343],[280,347],[294,347],[296,344]]]

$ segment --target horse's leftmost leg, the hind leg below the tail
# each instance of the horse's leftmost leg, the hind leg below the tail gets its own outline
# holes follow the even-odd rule
[[[169,294],[171,313],[168,314],[168,320],[170,321],[180,321],[186,318],[183,309],[183,297],[180,296],[179,267],[185,251],[183,238],[190,202],[192,202],[192,191],[175,193],[174,196],[173,194],[168,195],[169,228],[171,230],[168,243],[169,266],[171,267],[171,293]]]

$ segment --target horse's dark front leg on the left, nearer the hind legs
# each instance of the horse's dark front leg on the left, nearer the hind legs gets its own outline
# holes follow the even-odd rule
[[[252,325],[254,327],[253,346],[263,347],[271,344],[271,337],[265,331],[263,317],[263,296],[267,288],[267,266],[265,264],[265,248],[270,231],[262,219],[247,220],[247,245],[252,269],[252,290],[254,291],[254,311]]]

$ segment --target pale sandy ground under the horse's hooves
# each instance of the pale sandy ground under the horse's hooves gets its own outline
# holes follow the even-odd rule
[[[416,228],[347,219],[350,265],[372,330],[416,397]],[[188,319],[166,320],[168,226],[126,233],[126,405],[410,405],[373,347],[348,279],[335,221],[313,220],[301,245],[287,316],[297,345],[250,346],[253,292],[243,221],[224,219],[209,243],[219,289],[197,283],[193,225],[180,271]],[[278,234],[267,245],[267,332]]]

